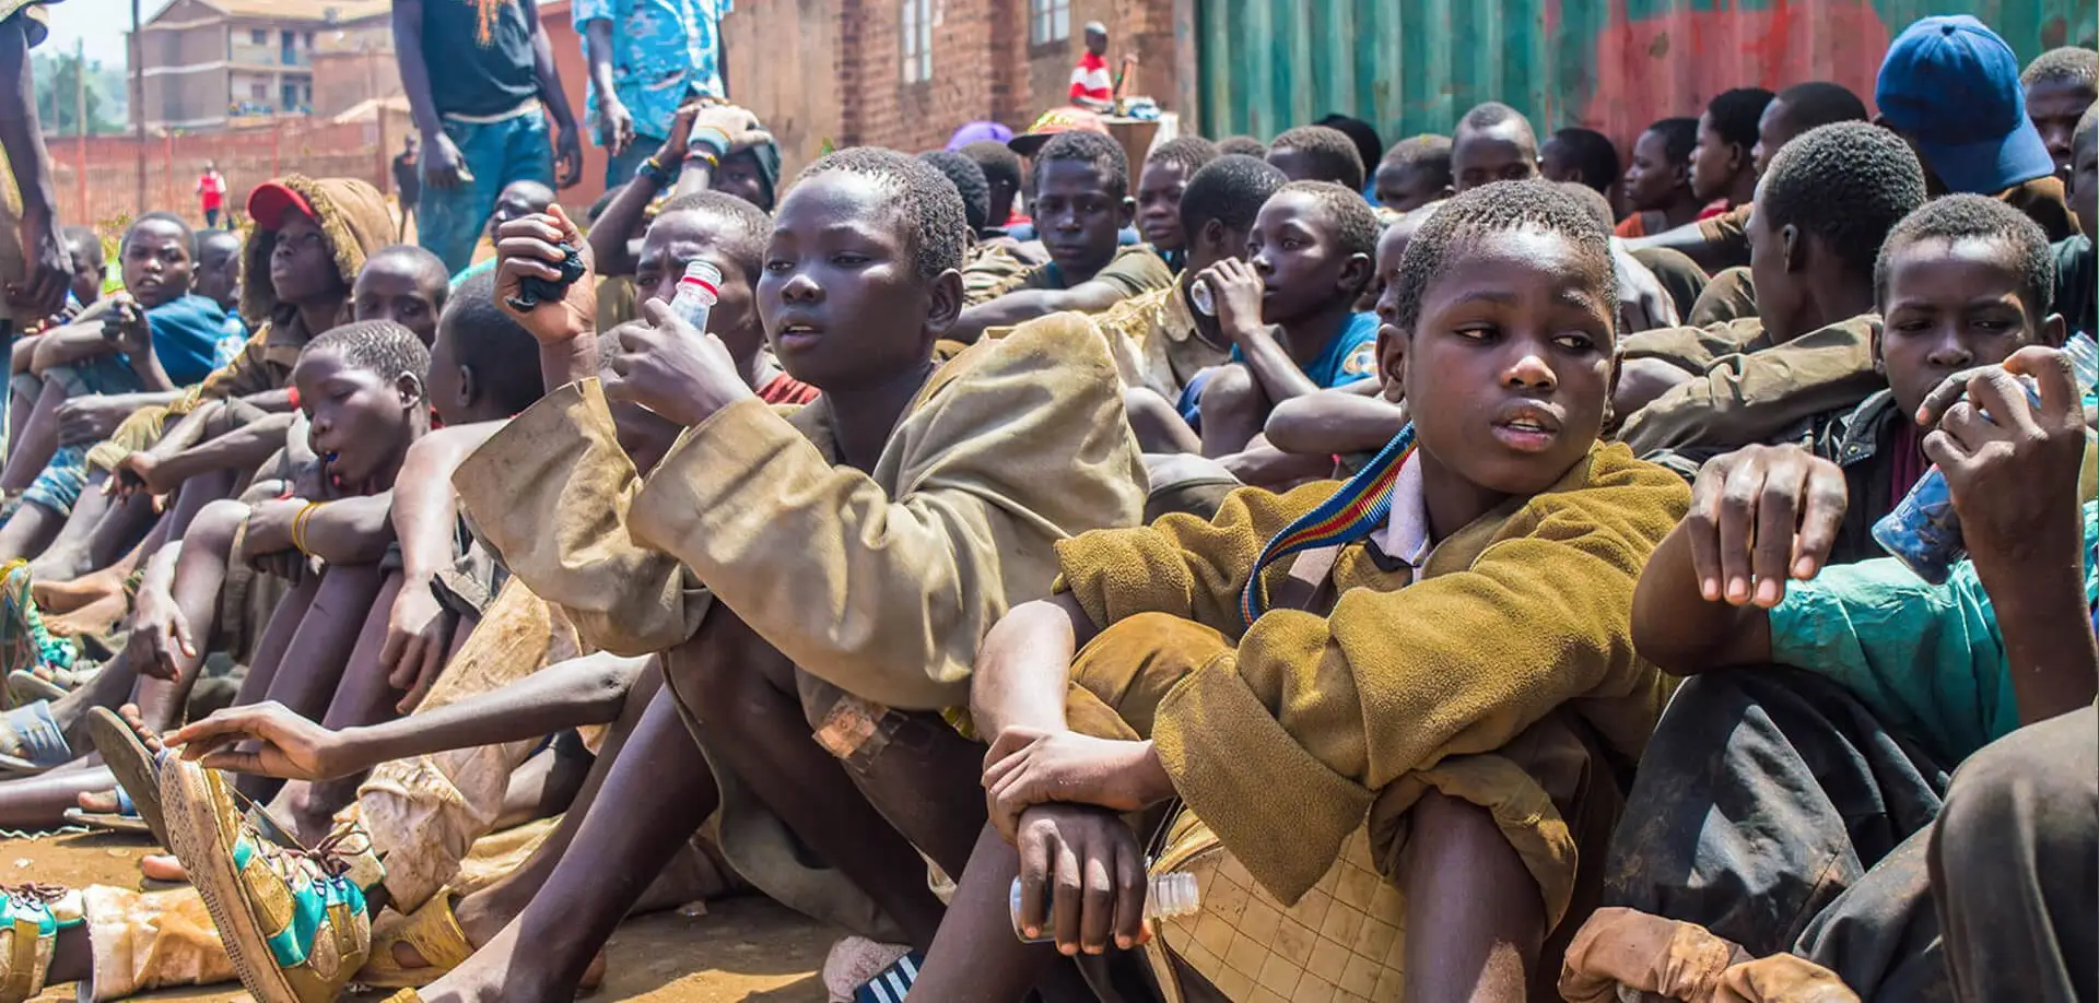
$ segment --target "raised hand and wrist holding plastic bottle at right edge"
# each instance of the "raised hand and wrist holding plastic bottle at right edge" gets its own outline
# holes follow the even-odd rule
[[[2034,380],[2038,407],[2013,376]],[[2021,348],[2002,367],[1956,374],[1916,420],[1937,426],[1925,455],[1946,474],[1977,571],[2078,554],[2084,403],[2068,355]]]

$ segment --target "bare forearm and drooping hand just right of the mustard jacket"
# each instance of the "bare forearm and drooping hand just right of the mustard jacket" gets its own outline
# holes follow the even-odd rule
[[[1822,571],[1843,512],[1843,470],[1797,445],[1711,460],[1639,575],[1633,646],[1675,676],[1769,661],[1767,611]]]

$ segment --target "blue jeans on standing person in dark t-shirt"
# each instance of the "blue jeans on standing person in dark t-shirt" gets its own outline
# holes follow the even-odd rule
[[[416,239],[458,273],[474,260],[474,243],[489,227],[495,197],[516,180],[554,187],[554,149],[546,134],[546,113],[531,109],[502,122],[445,120],[445,136],[460,147],[472,185],[458,189],[422,187],[416,204]]]

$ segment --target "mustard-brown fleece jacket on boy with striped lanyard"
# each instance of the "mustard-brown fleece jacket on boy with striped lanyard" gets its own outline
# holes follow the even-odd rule
[[[1148,737],[1188,808],[1270,892],[1297,900],[1366,820],[1390,860],[1404,810],[1436,787],[1494,812],[1557,921],[1576,839],[1555,804],[1585,795],[1541,766],[1560,749],[1518,739],[1572,713],[1572,728],[1549,728],[1560,745],[1578,732],[1637,760],[1667,684],[1633,653],[1633,583],[1690,491],[1599,445],[1551,489],[1442,539],[1419,581],[1358,541],[1318,590],[1337,598],[1282,609],[1293,562],[1270,564],[1278,609],[1247,627],[1238,594],[1261,546],[1335,489],[1243,489],[1209,522],[1087,533],[1058,546],[1060,583],[1100,627],[1167,613],[1236,642],[1165,695]]]

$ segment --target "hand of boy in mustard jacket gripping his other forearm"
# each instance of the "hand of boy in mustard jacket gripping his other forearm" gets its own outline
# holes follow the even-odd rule
[[[1173,797],[1152,743],[1008,728],[984,755],[991,825],[1008,839],[1037,804],[1075,802],[1136,812]]]

